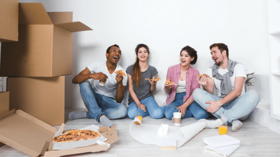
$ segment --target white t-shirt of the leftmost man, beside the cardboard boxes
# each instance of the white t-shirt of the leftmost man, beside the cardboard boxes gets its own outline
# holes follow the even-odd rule
[[[106,66],[106,61],[100,61],[100,62],[92,62],[90,63],[87,68],[89,68],[89,70],[92,73],[105,73],[108,78],[106,80],[106,83],[103,85],[99,84],[100,80],[96,80],[94,79],[93,84],[92,84],[92,88],[94,89],[94,91],[98,94],[102,94],[108,97],[111,97],[113,99],[115,99],[116,94],[117,94],[117,80],[116,80],[116,73],[112,73],[110,74],[107,66]],[[123,70],[123,68],[117,64],[116,70]],[[123,70],[123,72],[127,75],[127,73],[125,72],[125,70]],[[123,85],[126,86],[127,84],[127,76],[123,76]]]

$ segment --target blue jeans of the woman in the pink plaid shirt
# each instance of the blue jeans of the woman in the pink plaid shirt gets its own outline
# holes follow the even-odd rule
[[[164,115],[166,116],[167,119],[172,119],[173,113],[178,112],[179,109],[176,109],[175,107],[179,107],[183,105],[184,103],[184,96],[186,95],[186,92],[182,93],[176,93],[175,99],[170,103],[165,111]],[[189,117],[195,117],[196,119],[202,119],[202,118],[208,118],[211,114],[204,110],[197,102],[191,103],[186,109],[185,116],[182,117],[184,118],[189,118]]]

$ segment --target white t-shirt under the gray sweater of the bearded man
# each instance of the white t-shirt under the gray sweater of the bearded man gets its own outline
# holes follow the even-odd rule
[[[220,73],[221,75],[224,75],[227,72],[228,72],[227,68],[226,69],[221,69],[221,68],[218,69],[218,73]],[[207,74],[211,78],[213,78],[211,68],[209,68],[207,70]],[[237,77],[237,76],[244,77],[245,78],[244,81],[247,79],[245,68],[244,68],[243,64],[241,64],[241,63],[238,63],[238,64],[235,65],[233,75],[230,77],[232,90],[234,88],[235,77]],[[214,87],[217,91],[217,96],[220,96],[221,95],[221,81],[216,79],[216,78],[213,78],[213,79],[214,79]],[[243,88],[242,88],[242,92],[241,92],[240,96],[242,96],[244,93],[245,93],[245,84],[243,84]]]

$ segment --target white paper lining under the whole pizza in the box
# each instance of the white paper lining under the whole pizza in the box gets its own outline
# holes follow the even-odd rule
[[[78,130],[92,130],[95,132],[98,132],[99,127],[96,125],[90,125],[88,127],[84,127]],[[99,133],[99,132],[98,132]],[[97,141],[106,141],[107,138],[105,138],[101,133],[99,138],[95,139],[87,139],[87,140],[79,140],[79,141],[71,141],[71,142],[62,142],[62,143],[57,143],[53,142],[53,150],[63,150],[63,149],[72,149],[72,148],[78,148],[78,147],[85,147],[89,146],[92,144],[97,143]],[[58,131],[55,133],[54,137],[62,135],[61,131]]]

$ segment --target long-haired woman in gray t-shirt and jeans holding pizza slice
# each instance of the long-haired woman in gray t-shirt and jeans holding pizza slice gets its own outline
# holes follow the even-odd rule
[[[142,117],[150,115],[159,119],[164,116],[166,106],[159,107],[153,97],[157,81],[145,78],[156,78],[157,69],[148,65],[147,59],[150,51],[145,44],[139,44],[135,48],[136,62],[126,69],[128,74],[129,107],[128,116],[134,119],[135,113],[142,113]]]

